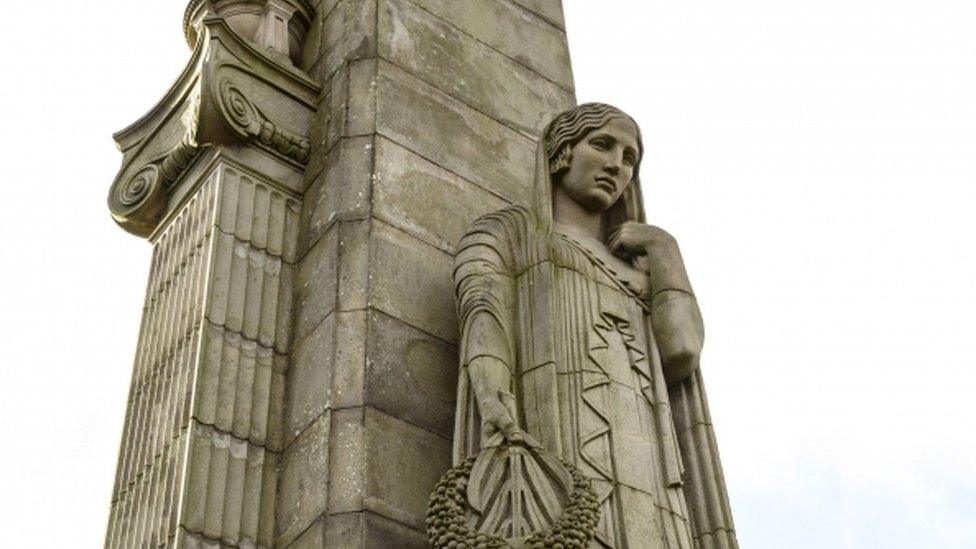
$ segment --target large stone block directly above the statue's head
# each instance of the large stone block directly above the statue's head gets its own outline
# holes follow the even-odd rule
[[[408,0],[382,0],[378,52],[478,111],[530,135],[575,99],[566,89]]]

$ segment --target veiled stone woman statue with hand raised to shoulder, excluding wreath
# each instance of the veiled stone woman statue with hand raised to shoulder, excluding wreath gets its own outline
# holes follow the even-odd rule
[[[566,111],[540,144],[532,209],[461,240],[454,460],[502,437],[541,445],[590,479],[590,547],[735,547],[701,316],[675,240],[644,222],[642,155],[622,111]]]

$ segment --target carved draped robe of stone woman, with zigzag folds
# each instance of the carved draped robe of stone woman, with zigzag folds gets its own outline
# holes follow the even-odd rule
[[[480,448],[467,363],[502,359],[519,426],[592,479],[593,547],[736,547],[700,374],[664,381],[648,305],[571,237],[513,207],[458,246],[462,326],[455,463]],[[488,315],[507,348],[469,333]]]

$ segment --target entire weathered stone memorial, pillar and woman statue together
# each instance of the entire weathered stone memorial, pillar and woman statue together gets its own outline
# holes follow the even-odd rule
[[[183,32],[115,135],[152,266],[106,548],[737,547],[695,294],[560,0]]]

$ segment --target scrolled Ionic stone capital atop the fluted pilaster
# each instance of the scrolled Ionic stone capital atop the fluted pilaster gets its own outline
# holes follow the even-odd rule
[[[136,123],[115,134],[122,168],[108,205],[125,230],[155,230],[202,149],[248,144],[282,162],[308,161],[317,84],[275,52],[262,51],[218,17],[201,24],[201,39],[177,82]]]

